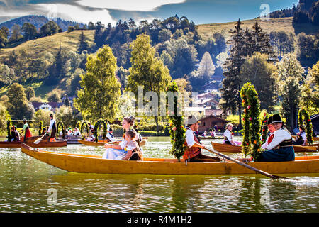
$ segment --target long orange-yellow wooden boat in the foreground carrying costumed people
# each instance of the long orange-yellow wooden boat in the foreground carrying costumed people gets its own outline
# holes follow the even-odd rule
[[[235,162],[178,162],[175,159],[145,158],[143,161],[106,160],[97,155],[55,153],[26,144],[21,151],[37,160],[69,172],[97,174],[156,175],[243,175],[255,172]],[[319,156],[296,157],[293,162],[249,162],[249,165],[272,174],[318,173]]]

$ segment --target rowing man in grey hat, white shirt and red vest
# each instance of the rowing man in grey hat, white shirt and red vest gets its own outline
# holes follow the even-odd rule
[[[201,144],[196,131],[198,131],[198,119],[196,116],[189,116],[186,123],[186,149],[184,151],[184,160],[189,160],[189,162],[220,162],[219,157],[211,157],[208,155],[203,155],[201,153],[201,148],[205,148],[205,145]]]

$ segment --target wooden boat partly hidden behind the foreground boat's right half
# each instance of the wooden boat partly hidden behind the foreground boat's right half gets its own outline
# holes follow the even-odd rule
[[[230,145],[230,144],[214,143],[214,142],[211,142],[211,145],[213,146],[213,149],[218,151],[218,152],[224,152],[224,153],[241,153],[242,152],[241,146],[234,146],[234,145]],[[315,146],[293,145],[293,149],[295,150],[295,153],[316,152],[317,151],[317,147],[315,147]]]

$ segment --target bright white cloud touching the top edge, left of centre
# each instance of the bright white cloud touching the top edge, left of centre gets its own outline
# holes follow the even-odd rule
[[[155,11],[158,7],[167,4],[181,4],[186,0],[80,0],[77,4],[103,9],[118,9],[123,11]]]

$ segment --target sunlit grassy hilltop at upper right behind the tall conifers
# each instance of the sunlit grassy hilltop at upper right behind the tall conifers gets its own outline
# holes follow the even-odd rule
[[[291,32],[295,35],[298,33],[304,32],[307,35],[314,35],[318,30],[319,26],[313,26],[310,23],[300,23],[293,24],[293,18],[269,18],[269,21],[262,21],[259,18],[242,21],[242,28],[252,28],[256,21],[260,24],[264,31],[268,33],[272,31],[286,31],[287,33]],[[211,38],[213,33],[222,33],[225,36],[225,39],[230,39],[229,31],[234,28],[236,22],[228,23],[209,23],[198,25],[198,33],[202,35],[203,38]]]

